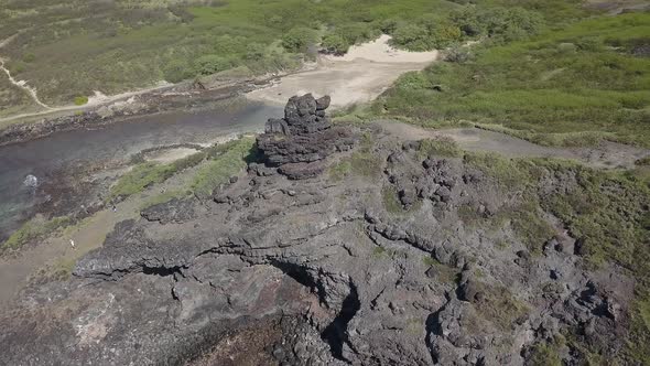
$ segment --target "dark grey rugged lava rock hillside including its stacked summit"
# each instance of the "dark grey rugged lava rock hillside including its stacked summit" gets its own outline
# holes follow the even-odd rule
[[[365,131],[378,175],[334,182],[325,158],[349,153],[318,143],[339,133],[318,119],[327,100],[292,100],[258,140],[264,161],[214,200],[151,207],[69,280],[28,288],[0,316],[0,364],[522,365],[566,333],[620,351],[625,271],[585,269],[561,228],[530,244],[466,225],[524,198],[381,131]],[[293,164],[321,165],[296,181]],[[541,193],[572,184],[539,182]],[[403,212],[387,208],[387,189]]]

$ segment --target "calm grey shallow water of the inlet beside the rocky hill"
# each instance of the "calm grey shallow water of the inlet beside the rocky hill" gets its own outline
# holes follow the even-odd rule
[[[0,147],[0,239],[14,230],[46,197],[23,185],[28,174],[40,183],[65,166],[84,162],[126,161],[133,153],[175,143],[207,143],[219,137],[263,128],[282,109],[263,104],[236,104],[206,110],[133,117],[100,129],[57,132]]]

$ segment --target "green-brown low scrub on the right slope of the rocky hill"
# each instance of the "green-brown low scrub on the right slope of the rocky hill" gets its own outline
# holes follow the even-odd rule
[[[467,159],[467,157],[472,157]],[[462,218],[474,225],[510,223],[533,254],[540,254],[554,228],[544,217],[557,217],[577,239],[584,266],[620,266],[636,281],[631,333],[626,357],[650,360],[650,189],[628,172],[605,172],[578,163],[548,159],[509,160],[466,153],[475,168],[496,177],[508,192],[519,191],[523,204],[505,206],[484,217],[475,207],[461,207]],[[549,351],[541,345],[539,352]],[[596,352],[597,353],[597,352]]]

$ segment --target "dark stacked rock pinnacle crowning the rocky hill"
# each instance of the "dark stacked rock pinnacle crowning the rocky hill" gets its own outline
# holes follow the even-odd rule
[[[314,177],[325,169],[323,160],[349,150],[354,134],[348,127],[333,126],[325,110],[329,97],[294,96],[284,107],[284,118],[271,118],[257,139],[267,165],[293,180]]]

